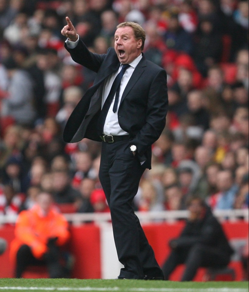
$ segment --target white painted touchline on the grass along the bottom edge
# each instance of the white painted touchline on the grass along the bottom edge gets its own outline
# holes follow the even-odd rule
[[[248,292],[244,288],[119,288],[119,287],[0,287],[13,291],[117,291],[117,292]]]

